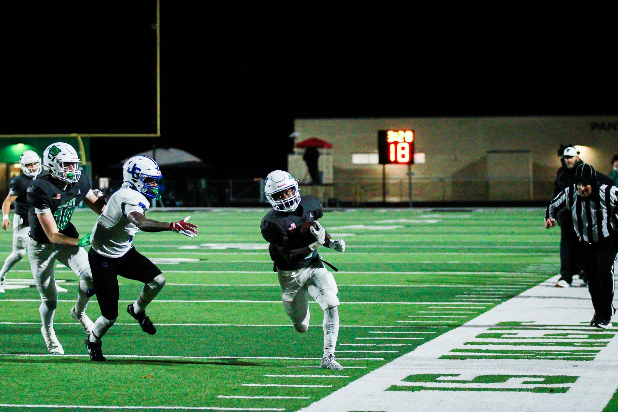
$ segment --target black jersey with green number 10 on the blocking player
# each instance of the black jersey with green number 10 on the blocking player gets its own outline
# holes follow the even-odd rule
[[[90,179],[82,173],[77,183],[69,184],[62,190],[64,182],[59,182],[51,175],[33,180],[28,187],[28,204],[30,205],[30,237],[39,243],[49,243],[41,223],[36,217],[36,209],[49,209],[56,219],[58,232],[68,237],[78,238],[79,233],[71,223],[71,216],[78,204],[82,203],[91,188]]]

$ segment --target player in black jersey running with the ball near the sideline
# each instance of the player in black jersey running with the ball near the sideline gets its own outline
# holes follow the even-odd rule
[[[297,332],[307,332],[309,327],[309,303],[307,293],[320,304],[324,311],[323,356],[320,366],[324,369],[343,369],[335,360],[335,347],[339,334],[339,298],[337,284],[325,267],[316,249],[327,246],[336,251],[345,251],[343,239],[334,240],[318,222],[322,217],[322,205],[313,196],[298,193],[298,182],[284,170],[275,170],[266,177],[266,199],[273,206],[262,219],[262,237],[270,243],[268,251],[279,275],[283,305],[292,319]],[[302,246],[294,242],[293,231],[305,222],[315,222],[317,229],[310,228],[315,242]],[[298,229],[297,229],[298,228]]]

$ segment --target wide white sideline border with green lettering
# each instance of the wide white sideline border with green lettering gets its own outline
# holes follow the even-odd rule
[[[601,411],[618,387],[618,328],[587,326],[593,311],[585,289],[535,286],[303,411]]]

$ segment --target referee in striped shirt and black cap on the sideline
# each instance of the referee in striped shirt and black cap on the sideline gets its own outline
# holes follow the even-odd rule
[[[545,228],[556,225],[556,212],[569,209],[582,246],[582,264],[588,275],[588,290],[595,308],[590,326],[607,329],[616,309],[614,261],[618,254],[618,188],[599,185],[596,170],[583,163],[575,170],[575,184],[564,188],[545,211]]]

